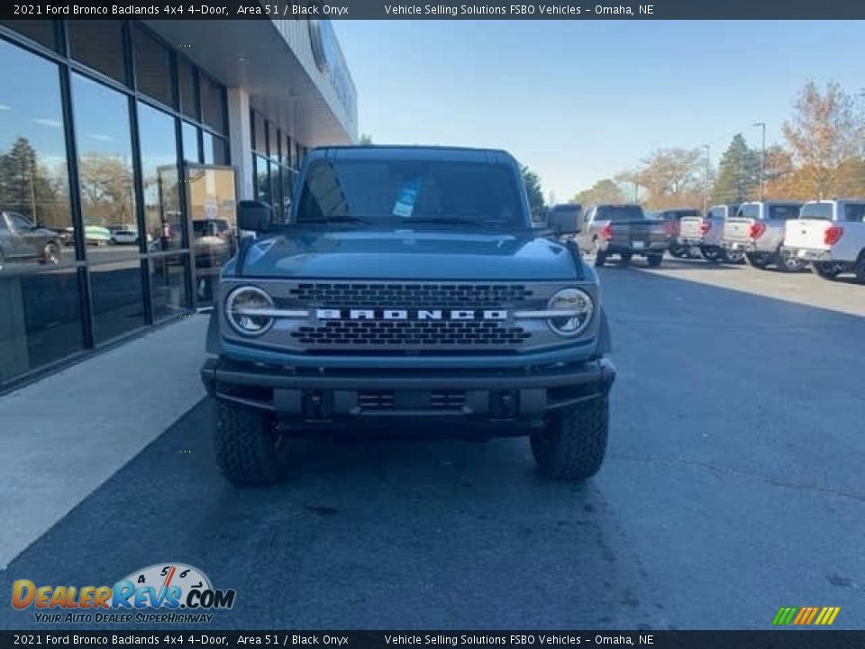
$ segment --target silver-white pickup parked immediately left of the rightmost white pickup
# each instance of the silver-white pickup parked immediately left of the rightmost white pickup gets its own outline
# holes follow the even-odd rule
[[[724,250],[743,252],[754,268],[797,272],[804,261],[781,254],[785,226],[799,215],[802,203],[797,201],[755,201],[742,203],[736,215],[724,223]]]

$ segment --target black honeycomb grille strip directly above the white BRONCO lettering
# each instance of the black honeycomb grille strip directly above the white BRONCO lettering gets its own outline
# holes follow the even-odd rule
[[[291,301],[305,306],[505,308],[533,296],[522,284],[299,284]]]

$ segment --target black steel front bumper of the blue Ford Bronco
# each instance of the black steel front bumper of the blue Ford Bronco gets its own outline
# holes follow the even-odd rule
[[[551,410],[605,397],[615,367],[601,359],[508,371],[292,370],[212,358],[201,377],[211,397],[269,411],[287,428],[402,418],[506,430],[537,426]]]

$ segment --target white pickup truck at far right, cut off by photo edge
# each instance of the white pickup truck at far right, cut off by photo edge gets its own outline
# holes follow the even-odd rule
[[[806,203],[799,218],[787,222],[782,253],[810,261],[822,278],[851,272],[865,283],[865,198]]]

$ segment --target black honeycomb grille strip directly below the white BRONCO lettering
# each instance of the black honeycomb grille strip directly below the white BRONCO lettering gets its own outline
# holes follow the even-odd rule
[[[292,332],[310,345],[513,345],[532,334],[500,322],[331,320]]]

